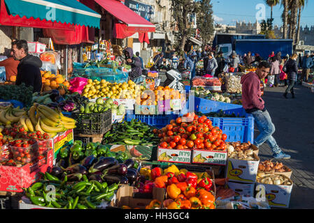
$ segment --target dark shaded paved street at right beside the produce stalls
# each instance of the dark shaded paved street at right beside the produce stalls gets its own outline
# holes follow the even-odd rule
[[[296,98],[283,98],[285,87],[266,87],[263,99],[276,126],[273,134],[290,160],[280,160],[292,169],[294,186],[290,208],[314,208],[314,93],[297,85]],[[259,132],[255,130],[255,135]],[[261,162],[271,157],[271,149],[263,144],[259,149]]]

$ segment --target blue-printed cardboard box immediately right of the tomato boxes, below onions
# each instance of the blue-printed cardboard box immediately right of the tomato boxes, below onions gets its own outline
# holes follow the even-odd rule
[[[235,160],[228,158],[226,178],[240,183],[255,183],[259,157],[253,153],[257,161]]]

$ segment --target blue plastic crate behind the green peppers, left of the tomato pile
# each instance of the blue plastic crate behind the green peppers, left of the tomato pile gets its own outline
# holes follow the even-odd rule
[[[126,114],[125,120],[131,121],[133,118],[140,120],[156,128],[164,128],[168,125],[171,119],[176,119],[180,116],[179,114],[162,114],[162,115],[142,115],[142,114]]]

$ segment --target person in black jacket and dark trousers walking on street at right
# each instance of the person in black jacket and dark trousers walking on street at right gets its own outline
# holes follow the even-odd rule
[[[285,67],[287,68],[287,75],[289,80],[289,86],[285,90],[285,93],[283,96],[287,98],[287,94],[290,91],[292,94],[292,98],[295,98],[294,95],[294,84],[297,83],[297,73],[298,73],[298,64],[297,64],[298,54],[293,54],[290,56],[290,59],[288,59],[287,63],[285,63]]]

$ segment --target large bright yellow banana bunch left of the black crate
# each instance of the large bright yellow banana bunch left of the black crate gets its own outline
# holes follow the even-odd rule
[[[34,130],[40,131],[42,134],[47,132],[50,137],[54,137],[58,132],[76,128],[76,121],[73,118],[68,118],[61,112],[56,112],[54,109],[38,103],[34,103],[30,107],[28,116],[29,118],[22,118],[22,121],[26,121],[26,125],[21,124],[24,128],[26,126],[30,132]]]

